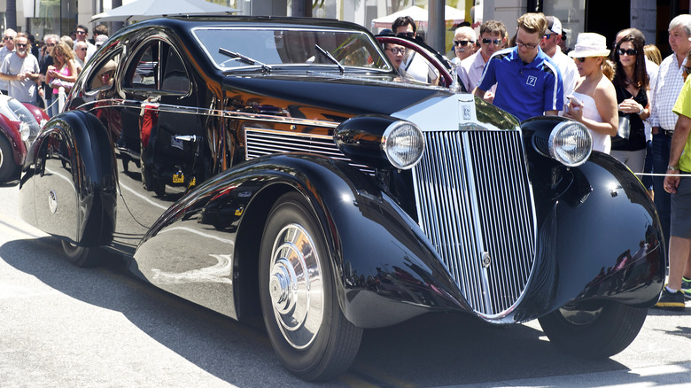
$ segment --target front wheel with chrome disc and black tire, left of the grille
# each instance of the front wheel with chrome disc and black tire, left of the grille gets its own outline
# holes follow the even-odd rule
[[[285,194],[268,215],[260,247],[260,299],[268,338],[283,366],[307,381],[328,380],[349,369],[362,337],[338,305],[318,225],[305,198]],[[299,291],[288,292],[293,289],[282,279]],[[315,291],[320,285],[322,292]]]

